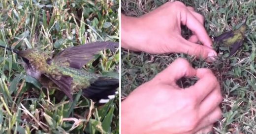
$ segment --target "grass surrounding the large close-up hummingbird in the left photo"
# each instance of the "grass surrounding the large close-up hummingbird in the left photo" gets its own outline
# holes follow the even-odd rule
[[[119,41],[119,0],[1,0],[0,45],[57,54],[66,47]],[[119,99],[95,106],[60,99],[26,76],[16,54],[0,49],[0,134],[118,134]],[[119,78],[119,51],[104,50],[84,69]]]

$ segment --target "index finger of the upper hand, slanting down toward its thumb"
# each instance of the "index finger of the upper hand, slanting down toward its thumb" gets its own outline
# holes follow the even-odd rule
[[[188,9],[181,11],[181,23],[192,30],[203,45],[212,48],[212,41],[208,36],[203,24],[201,24]]]

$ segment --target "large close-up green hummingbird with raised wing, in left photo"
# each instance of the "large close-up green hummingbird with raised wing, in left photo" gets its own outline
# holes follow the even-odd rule
[[[118,47],[116,42],[95,42],[68,47],[53,58],[36,48],[13,51],[24,61],[26,74],[37,79],[43,86],[57,87],[73,101],[72,93],[82,89],[82,94],[98,103],[107,103],[117,94],[119,80],[88,72],[82,67],[102,49]]]

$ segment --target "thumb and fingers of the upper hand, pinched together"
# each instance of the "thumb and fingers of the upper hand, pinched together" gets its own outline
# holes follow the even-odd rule
[[[182,44],[179,46],[184,46],[184,44],[185,46],[183,49],[180,49],[180,51],[189,55],[195,55],[197,58],[203,58],[207,62],[215,61],[217,53],[212,49],[212,41],[203,26],[204,17],[196,13],[193,7],[188,6],[186,8],[188,11],[181,11],[181,22],[192,30],[193,35],[189,40],[183,39]],[[196,44],[198,41],[203,45]]]

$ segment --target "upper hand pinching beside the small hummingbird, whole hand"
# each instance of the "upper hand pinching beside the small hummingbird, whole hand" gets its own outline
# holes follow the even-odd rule
[[[186,53],[209,62],[217,56],[204,28],[204,17],[182,2],[167,2],[139,18],[121,18],[122,47],[126,49],[153,54]],[[192,30],[189,40],[181,36],[181,24]]]

